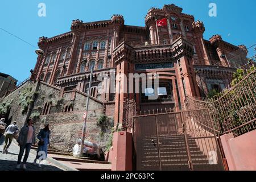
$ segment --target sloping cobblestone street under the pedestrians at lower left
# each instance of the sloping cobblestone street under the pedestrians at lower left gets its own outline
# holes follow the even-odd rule
[[[9,154],[3,154],[3,142],[4,137],[0,138],[0,171],[16,171],[16,170],[24,170],[24,169],[16,169],[16,163],[18,160],[18,154],[19,154],[19,146],[16,145],[14,142],[11,143],[11,146],[9,147]],[[24,157],[24,154],[23,154]],[[23,160],[22,157],[22,160]],[[41,163],[42,168],[39,168],[38,165],[34,166],[33,161],[35,159],[35,155],[31,153],[28,156],[27,159],[27,171],[62,171],[62,169],[53,166],[53,164],[47,162],[46,160],[43,160]]]

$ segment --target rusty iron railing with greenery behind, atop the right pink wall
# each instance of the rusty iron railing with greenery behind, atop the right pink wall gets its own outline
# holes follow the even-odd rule
[[[208,108],[218,134],[235,137],[256,128],[256,69],[244,72],[236,84],[216,97],[185,99],[186,109]]]

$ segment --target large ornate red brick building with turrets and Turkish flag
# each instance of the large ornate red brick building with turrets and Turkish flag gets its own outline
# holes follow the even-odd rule
[[[157,27],[156,19],[163,18],[167,18],[167,26]],[[108,111],[114,112],[117,124],[123,119],[125,98],[136,101],[137,111],[181,110],[187,95],[205,96],[209,90],[230,87],[233,72],[246,64],[245,46],[227,43],[220,35],[205,40],[203,22],[184,14],[180,7],[152,8],[144,21],[145,26],[138,27],[126,25],[121,15],[89,23],[73,20],[71,31],[39,39],[38,46],[45,54],[38,57],[34,78],[55,85],[62,92],[87,93],[93,69],[90,95],[105,103],[115,102],[115,108]],[[141,81],[137,94],[125,87],[123,93],[110,92],[113,69],[113,74],[158,73],[159,88],[164,91],[158,99],[148,100]],[[103,80],[100,73],[108,78]],[[115,82],[117,91],[124,81]]]

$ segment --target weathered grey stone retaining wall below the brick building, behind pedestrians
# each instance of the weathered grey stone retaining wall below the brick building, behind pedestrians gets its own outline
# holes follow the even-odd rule
[[[59,88],[40,82],[36,90],[36,97],[32,105],[31,113],[22,114],[22,106],[19,105],[20,93],[27,88],[36,87],[37,82],[26,82],[13,93],[3,98],[1,102],[10,102],[10,114],[8,118],[13,122],[17,121],[19,128],[24,125],[27,117],[34,119],[36,134],[43,128],[44,123],[48,122],[51,130],[51,146],[63,152],[71,152],[76,140],[81,138],[84,119],[82,115],[86,106],[86,95],[74,90],[61,93]],[[73,100],[72,100],[73,98]],[[45,106],[49,104],[46,111]],[[73,109],[65,111],[65,106]],[[88,118],[86,122],[86,140],[99,143],[105,151],[105,145],[112,134],[114,125],[112,115],[102,125],[97,125],[97,119],[104,111],[101,101],[94,98],[89,100]],[[29,114],[29,116],[27,116]]]

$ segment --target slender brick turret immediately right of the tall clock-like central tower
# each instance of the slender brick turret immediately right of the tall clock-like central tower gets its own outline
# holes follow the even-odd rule
[[[197,52],[197,56],[199,58],[199,63],[203,65],[210,65],[209,57],[207,54],[207,48],[204,43],[204,23],[200,20],[192,23],[194,38],[197,39],[196,42],[199,43],[196,45],[197,49],[200,51]]]

